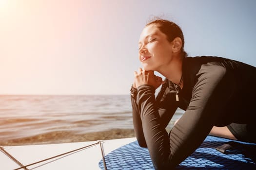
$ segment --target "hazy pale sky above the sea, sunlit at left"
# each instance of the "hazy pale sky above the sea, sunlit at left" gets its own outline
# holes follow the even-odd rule
[[[181,27],[189,56],[256,67],[256,0],[0,0],[0,94],[129,94],[154,16]]]

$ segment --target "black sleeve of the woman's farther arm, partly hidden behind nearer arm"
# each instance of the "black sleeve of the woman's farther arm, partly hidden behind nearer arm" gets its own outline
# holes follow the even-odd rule
[[[149,87],[149,85],[142,85],[142,86]],[[152,87],[152,89],[154,90],[154,93],[155,93],[155,89],[153,87]],[[165,88],[161,89],[161,90],[165,90]],[[135,131],[135,136],[137,137],[139,146],[147,148],[147,144],[146,144],[143,129],[142,129],[141,118],[140,118],[140,109],[138,108],[138,104],[137,104],[137,93],[138,93],[137,89],[132,86],[131,87],[131,102],[132,102],[134,131]],[[154,98],[155,98],[155,96],[154,96]],[[161,126],[163,128],[166,128],[166,126],[172,119],[175,111],[177,110],[177,105],[170,104],[172,102],[170,100],[168,100],[167,98],[168,98],[168,96],[165,96],[164,97],[165,100],[161,99],[161,101],[159,101],[156,104],[158,107],[159,117],[161,119]]]

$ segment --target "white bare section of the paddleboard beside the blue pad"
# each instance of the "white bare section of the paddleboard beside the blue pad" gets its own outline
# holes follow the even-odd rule
[[[135,137],[103,141],[104,153],[136,141]],[[46,145],[24,145],[24,146],[1,146],[3,150],[13,156],[22,165],[29,165],[40,160],[47,159],[62,153],[67,153],[85,146],[97,143],[97,141],[74,142]],[[102,159],[100,145],[95,145],[78,152],[65,154],[63,156],[29,166],[29,170],[100,170],[98,162]],[[20,168],[3,151],[0,152],[0,170],[15,170]],[[24,169],[21,169],[24,170]]]

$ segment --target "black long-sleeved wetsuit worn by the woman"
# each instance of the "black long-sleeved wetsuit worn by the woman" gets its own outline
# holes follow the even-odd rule
[[[256,68],[221,57],[186,57],[183,88],[165,80],[155,98],[151,85],[131,89],[135,134],[157,170],[170,170],[193,153],[213,126],[227,126],[239,140],[256,141]],[[165,130],[177,107],[185,113]],[[233,126],[235,125],[235,126]],[[239,134],[236,125],[243,125]],[[243,134],[244,133],[244,134]]]

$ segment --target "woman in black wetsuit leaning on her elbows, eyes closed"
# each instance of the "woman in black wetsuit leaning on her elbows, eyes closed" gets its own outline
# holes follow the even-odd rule
[[[187,57],[183,47],[182,31],[167,20],[148,23],[139,38],[144,69],[134,72],[131,88],[134,129],[159,170],[176,167],[210,132],[256,142],[256,68],[220,57]],[[177,107],[185,113],[168,134]]]

